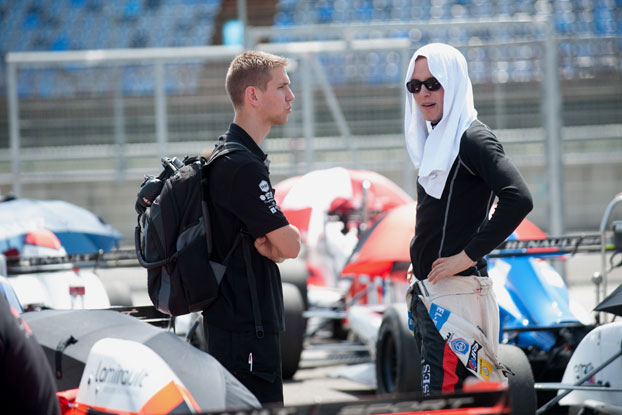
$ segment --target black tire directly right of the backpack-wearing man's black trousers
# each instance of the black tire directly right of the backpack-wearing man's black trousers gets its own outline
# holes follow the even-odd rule
[[[300,364],[305,335],[304,302],[293,284],[283,283],[283,303],[285,332],[281,334],[281,364],[283,379],[291,379]]]

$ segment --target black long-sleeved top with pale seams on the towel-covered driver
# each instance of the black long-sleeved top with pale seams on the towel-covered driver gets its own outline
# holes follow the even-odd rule
[[[497,207],[489,219],[490,209]],[[474,121],[464,132],[440,199],[417,183],[415,236],[410,243],[413,274],[427,278],[432,263],[462,250],[475,266],[459,275],[486,276],[485,255],[503,242],[533,208],[531,193],[501,143]]]

